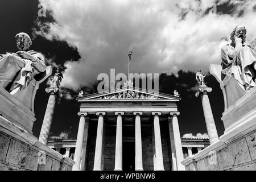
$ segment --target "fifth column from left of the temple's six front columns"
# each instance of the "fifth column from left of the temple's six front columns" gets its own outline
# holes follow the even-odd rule
[[[160,123],[159,123],[159,115],[160,112],[152,112],[154,115],[154,135],[155,135],[155,164],[156,171],[164,171],[163,166],[163,151],[162,151],[162,142],[161,142],[161,134],[160,134]]]

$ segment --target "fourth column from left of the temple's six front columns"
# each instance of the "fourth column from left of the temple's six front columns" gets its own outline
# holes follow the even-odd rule
[[[143,171],[141,116],[142,112],[133,112],[135,115],[135,171]]]

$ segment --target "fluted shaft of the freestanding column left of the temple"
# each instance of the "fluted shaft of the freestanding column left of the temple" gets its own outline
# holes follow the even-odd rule
[[[46,113],[44,114],[42,129],[40,131],[40,135],[38,139],[39,142],[45,145],[47,145],[49,131],[52,125],[52,117],[53,117],[53,112],[55,108],[56,97],[57,97],[56,94],[54,92],[51,92],[51,95],[49,96],[48,104],[46,107]]]

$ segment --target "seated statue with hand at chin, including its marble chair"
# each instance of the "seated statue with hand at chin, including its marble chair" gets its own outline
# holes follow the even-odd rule
[[[232,42],[221,49],[221,65],[210,64],[209,71],[220,83],[225,110],[255,87],[256,53],[246,46],[246,28],[237,26]]]

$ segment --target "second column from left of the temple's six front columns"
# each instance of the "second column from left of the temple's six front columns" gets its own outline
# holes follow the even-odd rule
[[[93,171],[101,171],[102,169],[102,147],[103,147],[103,129],[104,129],[104,118],[105,112],[97,112],[98,115],[98,127],[96,137],[96,147],[94,155],[94,166]]]

